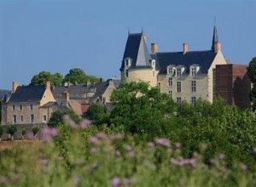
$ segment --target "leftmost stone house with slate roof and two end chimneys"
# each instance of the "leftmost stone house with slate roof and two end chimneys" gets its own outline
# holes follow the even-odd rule
[[[47,122],[52,112],[45,108],[49,103],[55,103],[50,82],[45,86],[19,86],[13,82],[12,93],[3,100],[2,124]]]

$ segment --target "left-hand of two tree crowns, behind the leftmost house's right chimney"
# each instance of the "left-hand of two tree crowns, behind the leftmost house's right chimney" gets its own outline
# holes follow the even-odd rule
[[[51,74],[49,71],[41,71],[38,75],[32,77],[31,85],[44,85],[45,82],[51,82],[52,86],[58,87],[61,85],[63,76],[60,73]]]

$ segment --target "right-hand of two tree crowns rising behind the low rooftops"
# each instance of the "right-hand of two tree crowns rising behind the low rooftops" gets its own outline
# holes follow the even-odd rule
[[[87,76],[82,69],[73,68],[69,70],[69,73],[67,73],[62,82],[71,82],[73,84],[99,82],[99,78],[94,76]]]

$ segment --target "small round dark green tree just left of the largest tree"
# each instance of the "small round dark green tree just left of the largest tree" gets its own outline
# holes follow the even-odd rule
[[[108,123],[109,113],[102,104],[92,103],[84,116],[93,121],[95,124],[102,124]]]

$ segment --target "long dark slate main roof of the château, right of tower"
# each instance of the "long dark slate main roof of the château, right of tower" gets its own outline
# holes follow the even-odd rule
[[[157,53],[151,54],[152,59],[157,61],[159,65],[160,74],[166,74],[166,68],[168,65],[184,65],[189,70],[190,65],[200,65],[201,73],[207,73],[208,69],[212,65],[212,61],[216,56],[216,53],[212,50],[208,51],[190,51],[186,54],[183,52],[170,52],[170,53]]]

